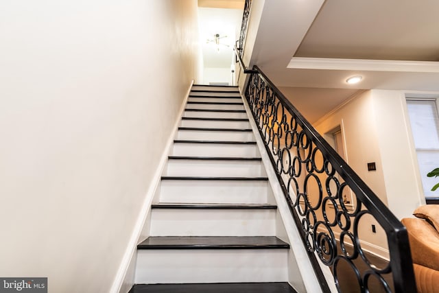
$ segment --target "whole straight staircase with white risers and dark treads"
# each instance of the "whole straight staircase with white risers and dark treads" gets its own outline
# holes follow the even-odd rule
[[[237,87],[193,86],[130,292],[296,292],[271,192]]]

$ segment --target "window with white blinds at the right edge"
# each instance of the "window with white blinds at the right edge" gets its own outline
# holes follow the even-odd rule
[[[439,189],[431,191],[439,178],[427,173],[439,167],[439,116],[436,99],[407,99],[416,156],[425,198],[437,198]]]

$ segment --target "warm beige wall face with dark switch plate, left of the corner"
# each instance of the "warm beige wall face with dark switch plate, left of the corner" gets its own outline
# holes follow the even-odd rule
[[[342,128],[348,165],[366,182],[384,204],[387,204],[388,198],[383,178],[377,125],[373,115],[373,100],[372,91],[360,93],[344,106],[318,121],[315,127],[322,135],[331,132],[337,126]],[[368,172],[367,163],[370,162],[376,163],[377,171]],[[377,233],[372,233],[372,224],[377,227]],[[364,249],[388,257],[385,234],[375,220],[368,216],[361,219],[359,237]]]

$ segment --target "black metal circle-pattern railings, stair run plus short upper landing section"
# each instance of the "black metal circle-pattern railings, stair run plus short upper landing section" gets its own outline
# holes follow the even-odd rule
[[[416,292],[403,224],[261,69],[245,67],[243,47],[235,51],[250,73],[245,96],[322,290],[329,286],[320,265],[340,292]],[[368,253],[364,235],[387,246],[390,261]]]

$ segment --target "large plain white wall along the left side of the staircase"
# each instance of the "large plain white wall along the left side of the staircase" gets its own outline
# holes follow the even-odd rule
[[[196,9],[1,1],[1,276],[110,290],[196,75]]]

